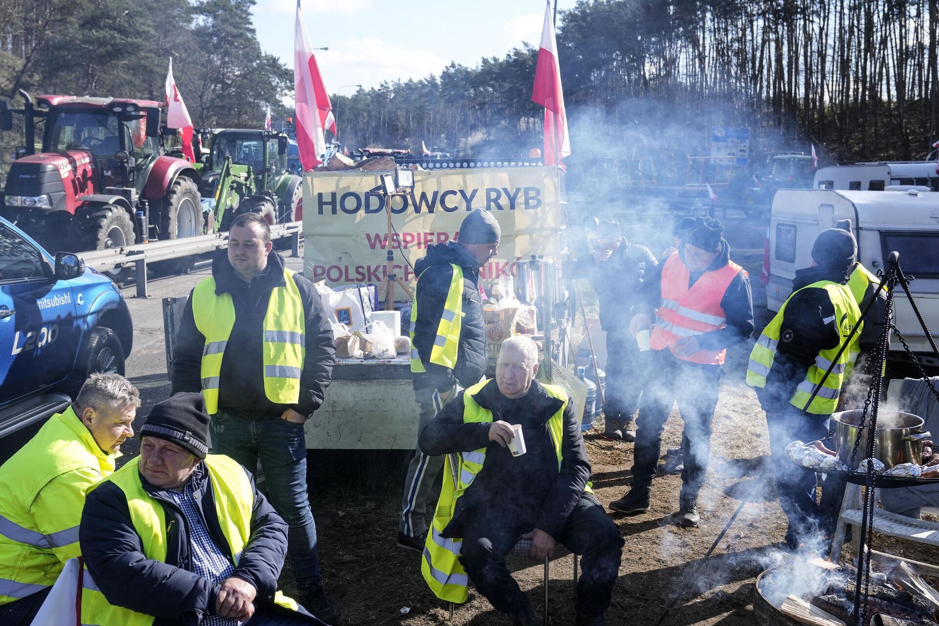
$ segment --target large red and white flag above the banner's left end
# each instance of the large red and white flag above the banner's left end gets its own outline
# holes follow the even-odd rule
[[[304,172],[308,172],[323,162],[319,158],[326,153],[324,131],[331,130],[335,134],[336,120],[332,116],[326,85],[316,66],[310,37],[300,17],[300,0],[297,0],[297,23],[294,27],[294,89],[300,165]]]

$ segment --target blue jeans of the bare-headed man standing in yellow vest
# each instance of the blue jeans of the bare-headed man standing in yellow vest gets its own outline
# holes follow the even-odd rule
[[[212,449],[254,473],[261,460],[274,509],[284,518],[287,554],[300,595],[319,585],[316,522],[306,492],[306,439],[303,425],[282,420],[246,420],[219,411],[212,416]]]

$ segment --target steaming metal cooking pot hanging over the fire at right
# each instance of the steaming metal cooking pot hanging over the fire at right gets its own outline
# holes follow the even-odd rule
[[[861,463],[868,449],[870,428],[858,428],[863,409],[841,411],[831,417],[835,420],[835,451],[841,463],[848,465],[854,451],[854,442],[860,431],[861,441],[854,458],[854,469]],[[870,416],[868,417],[870,420]],[[929,433],[923,432],[925,422],[919,416],[902,411],[881,410],[877,412],[877,434],[874,437],[874,458],[887,468],[901,463],[922,465],[923,439]]]

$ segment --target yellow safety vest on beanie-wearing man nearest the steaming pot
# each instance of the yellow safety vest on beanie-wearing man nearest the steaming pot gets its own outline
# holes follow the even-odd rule
[[[830,350],[820,350],[815,358],[815,363],[808,368],[806,379],[799,383],[793,393],[789,404],[800,410],[808,403],[812,391],[822,381],[822,376],[828,370],[832,361],[838,356],[841,346],[845,343],[851,329],[861,317],[861,312],[857,308],[857,303],[851,294],[851,290],[845,284],[831,281],[813,282],[803,289],[822,288],[827,292],[828,298],[835,308],[835,320],[838,323],[840,341],[837,346]],[[773,368],[773,361],[776,359],[776,349],[779,342],[779,329],[782,327],[782,318],[786,312],[786,306],[792,300],[795,294],[802,291],[798,289],[787,299],[779,313],[773,318],[766,328],[763,328],[760,339],[753,346],[750,352],[750,360],[747,365],[747,385],[750,387],[765,387],[766,376]],[[863,327],[862,327],[863,328]],[[854,334],[852,343],[841,353],[841,357],[835,361],[835,367],[831,374],[824,381],[824,385],[819,389],[811,405],[808,405],[808,413],[814,415],[831,415],[838,406],[838,397],[841,393],[841,385],[845,380],[849,355],[857,351],[857,345],[860,343],[860,331]]]

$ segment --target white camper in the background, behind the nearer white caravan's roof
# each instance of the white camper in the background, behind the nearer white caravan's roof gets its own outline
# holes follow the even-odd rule
[[[935,161],[904,160],[829,165],[815,172],[812,189],[884,191],[887,187],[916,186],[939,191]]]

